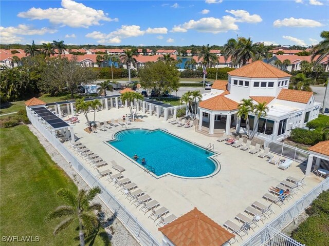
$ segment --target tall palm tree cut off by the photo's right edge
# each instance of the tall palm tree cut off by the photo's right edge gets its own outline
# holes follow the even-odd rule
[[[317,56],[317,59],[315,61],[315,65],[320,64],[320,62],[325,58],[327,55],[329,55],[329,31],[322,31],[320,36],[323,38],[323,40],[316,46],[313,47],[313,55],[312,60],[314,60]],[[329,76],[328,76],[329,80]],[[324,114],[325,111],[325,103],[327,101],[327,98],[329,97],[329,83],[327,83],[327,86],[325,88],[324,98],[323,98],[323,107],[322,107],[322,114]]]

